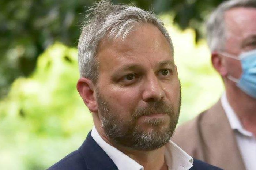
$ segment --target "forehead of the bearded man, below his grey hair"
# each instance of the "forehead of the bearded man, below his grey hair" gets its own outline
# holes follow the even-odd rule
[[[99,71],[106,71],[127,64],[154,65],[164,60],[173,61],[173,52],[157,27],[140,24],[124,40],[103,39],[97,48],[97,59]]]

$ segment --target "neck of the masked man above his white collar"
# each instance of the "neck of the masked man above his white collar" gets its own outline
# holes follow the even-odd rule
[[[237,114],[243,127],[256,136],[256,99],[239,89],[233,89],[226,88],[227,101]]]

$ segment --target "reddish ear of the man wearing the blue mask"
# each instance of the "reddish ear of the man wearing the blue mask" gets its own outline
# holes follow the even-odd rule
[[[223,60],[223,57],[218,52],[211,53],[211,62],[215,70],[222,77],[225,77],[227,75],[225,60]]]

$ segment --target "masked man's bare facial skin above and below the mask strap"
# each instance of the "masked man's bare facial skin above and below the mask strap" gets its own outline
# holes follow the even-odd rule
[[[225,51],[238,56],[241,52],[256,49],[256,9],[233,8],[225,12],[226,46]],[[242,73],[238,60],[225,57],[229,74],[239,78]]]

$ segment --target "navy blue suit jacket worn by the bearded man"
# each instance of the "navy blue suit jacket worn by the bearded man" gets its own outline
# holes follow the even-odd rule
[[[61,159],[48,170],[118,170],[112,159],[91,137],[91,132],[86,137],[82,146]],[[222,170],[200,160],[194,159],[190,170]]]

